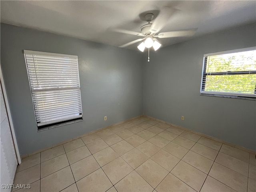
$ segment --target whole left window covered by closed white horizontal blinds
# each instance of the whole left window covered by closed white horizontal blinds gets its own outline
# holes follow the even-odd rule
[[[38,128],[82,118],[77,56],[24,50]]]

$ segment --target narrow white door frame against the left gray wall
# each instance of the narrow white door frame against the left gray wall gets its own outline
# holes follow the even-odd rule
[[[0,65],[0,72],[1,72],[0,73],[0,80],[1,80],[2,92],[3,92],[3,95],[4,95],[4,101],[5,101],[5,104],[6,104],[6,111],[7,111],[8,120],[9,120],[9,124],[10,124],[10,128],[11,128],[12,140],[13,140],[13,143],[14,143],[16,158],[18,160],[18,164],[21,164],[20,152],[19,152],[18,143],[17,143],[17,139],[16,139],[16,134],[15,134],[14,126],[13,126],[13,122],[12,122],[12,115],[11,115],[11,111],[10,111],[8,97],[7,97],[7,94],[6,94],[6,89],[5,89],[5,84],[4,84],[4,78],[3,78],[3,74],[2,74],[1,65]]]

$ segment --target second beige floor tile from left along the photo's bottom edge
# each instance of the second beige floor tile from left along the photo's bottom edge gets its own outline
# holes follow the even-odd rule
[[[41,192],[60,191],[75,182],[70,166],[41,179]]]

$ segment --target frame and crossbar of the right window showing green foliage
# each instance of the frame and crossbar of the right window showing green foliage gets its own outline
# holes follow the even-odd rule
[[[230,54],[230,53],[237,53],[237,52],[245,52],[245,51],[252,51],[256,50],[256,47],[249,47],[249,48],[242,48],[242,49],[235,49],[235,50],[228,50],[222,52],[215,52],[210,54],[204,54],[203,57],[203,67],[202,67],[202,78],[201,78],[201,86],[200,86],[200,95],[203,96],[216,96],[216,97],[226,97],[226,98],[240,98],[240,99],[248,99],[248,100],[256,100],[256,84],[254,88],[254,94],[246,94],[246,93],[230,93],[230,92],[213,92],[213,91],[204,91],[205,89],[205,82],[203,81],[204,78],[207,77],[206,68],[207,68],[207,61],[205,60],[208,56],[217,56],[222,54]],[[241,71],[241,72],[213,72],[211,75],[237,75],[237,74],[256,74],[256,70],[253,71]]]

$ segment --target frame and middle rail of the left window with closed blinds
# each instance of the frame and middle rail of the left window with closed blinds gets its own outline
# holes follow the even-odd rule
[[[34,115],[35,115],[35,120],[36,120],[36,125],[38,127],[38,131],[40,130],[46,130],[48,128],[54,128],[54,127],[59,127],[59,126],[63,126],[66,124],[72,124],[75,122],[80,122],[83,120],[83,111],[82,111],[82,98],[81,98],[81,88],[80,88],[80,77],[79,77],[79,69],[78,69],[78,56],[75,55],[68,55],[68,54],[57,54],[57,53],[50,53],[50,52],[39,52],[39,51],[32,51],[32,50],[23,50],[24,53],[24,58],[25,58],[25,63],[26,63],[26,69],[27,69],[27,73],[28,73],[28,81],[29,81],[29,86],[30,86],[30,91],[31,91],[31,97],[32,97],[32,102],[33,102],[33,109],[34,109]],[[45,55],[45,56],[54,56],[54,57],[67,57],[67,58],[75,58],[76,59],[76,64],[77,64],[77,72],[78,72],[78,84],[79,84],[79,98],[80,98],[80,102],[81,102],[81,115],[79,115],[78,117],[73,117],[73,118],[62,118],[60,121],[56,121],[56,122],[44,122],[41,123],[42,125],[38,126],[38,121],[37,121],[37,116],[36,116],[36,108],[34,105],[34,98],[33,98],[33,90],[32,90],[32,86],[31,86],[31,82],[30,82],[30,73],[28,71],[28,63],[27,63],[27,59],[26,59],[26,54],[38,54],[38,55]],[[75,88],[42,88],[42,90],[38,90],[38,91],[58,91],[58,90],[68,90],[68,89],[75,89]],[[35,92],[35,90],[34,90]]]

